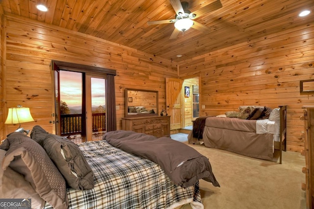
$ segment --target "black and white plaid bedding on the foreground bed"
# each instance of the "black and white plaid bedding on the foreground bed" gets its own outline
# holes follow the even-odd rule
[[[176,186],[158,164],[105,140],[78,146],[94,172],[95,187],[68,188],[69,209],[172,209],[187,203],[203,208],[199,182],[187,188]],[[51,208],[46,203],[45,209]]]

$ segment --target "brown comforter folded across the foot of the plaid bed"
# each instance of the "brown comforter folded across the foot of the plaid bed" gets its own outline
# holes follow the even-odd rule
[[[105,133],[103,139],[114,147],[159,164],[176,185],[188,187],[204,179],[213,186],[220,186],[208,158],[182,142],[123,130]]]

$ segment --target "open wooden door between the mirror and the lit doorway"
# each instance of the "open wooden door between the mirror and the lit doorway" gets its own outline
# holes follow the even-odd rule
[[[183,80],[166,78],[166,111],[170,117],[170,130],[181,128],[181,103]]]

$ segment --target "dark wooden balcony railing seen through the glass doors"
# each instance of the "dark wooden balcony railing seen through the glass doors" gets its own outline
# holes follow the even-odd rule
[[[106,130],[105,113],[92,114],[92,129],[94,132]],[[82,133],[82,114],[61,115],[61,136],[76,135]]]

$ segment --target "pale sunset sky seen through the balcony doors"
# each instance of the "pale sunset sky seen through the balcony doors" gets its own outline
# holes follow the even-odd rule
[[[92,105],[105,105],[105,79],[92,78]],[[81,106],[82,74],[60,70],[60,99],[69,107]]]

